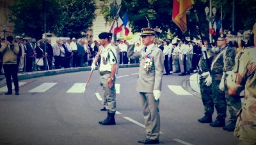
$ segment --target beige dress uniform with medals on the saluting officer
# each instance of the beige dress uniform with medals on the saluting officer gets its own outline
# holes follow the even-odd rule
[[[145,118],[147,138],[156,140],[160,133],[159,100],[154,99],[153,90],[160,90],[164,69],[163,51],[152,44],[141,52],[134,52],[134,45],[129,45],[127,56],[140,59],[140,73],[136,90],[140,92],[141,105]]]

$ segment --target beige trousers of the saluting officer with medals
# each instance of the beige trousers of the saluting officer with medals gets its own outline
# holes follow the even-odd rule
[[[158,139],[160,133],[159,100],[155,100],[153,93],[142,92],[140,92],[140,99],[147,139]]]

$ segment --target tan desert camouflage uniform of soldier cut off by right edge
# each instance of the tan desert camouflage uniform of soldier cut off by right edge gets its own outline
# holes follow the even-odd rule
[[[256,47],[246,48],[237,53],[233,74],[228,80],[231,94],[244,90],[241,118],[237,119],[234,135],[239,144],[256,144]],[[229,76],[228,76],[229,77]]]

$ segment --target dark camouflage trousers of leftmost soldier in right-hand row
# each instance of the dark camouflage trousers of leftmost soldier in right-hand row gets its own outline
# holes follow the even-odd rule
[[[200,78],[200,92],[204,104],[204,114],[213,114],[214,102],[212,98],[211,86],[205,85],[205,78]]]

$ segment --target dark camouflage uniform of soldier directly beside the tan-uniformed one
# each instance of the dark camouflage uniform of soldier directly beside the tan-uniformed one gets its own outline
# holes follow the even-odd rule
[[[225,97],[227,100],[227,107],[230,113],[230,121],[236,121],[236,114],[239,109],[241,109],[241,99],[239,96],[229,95],[227,88],[227,76],[234,69],[235,57],[236,57],[236,48],[228,46],[226,48],[226,53],[223,54],[224,57],[224,67],[223,67],[223,78],[225,80]]]

